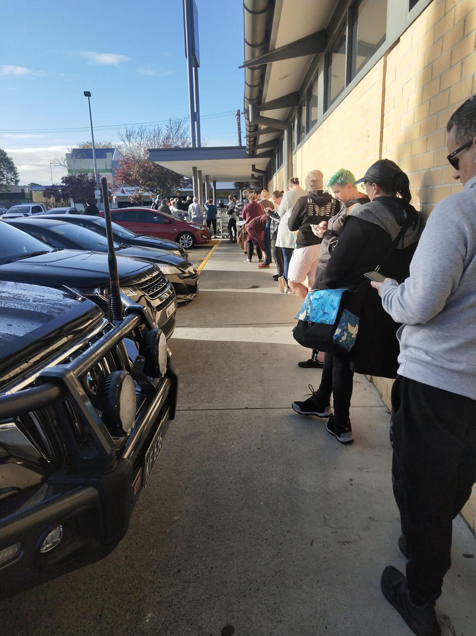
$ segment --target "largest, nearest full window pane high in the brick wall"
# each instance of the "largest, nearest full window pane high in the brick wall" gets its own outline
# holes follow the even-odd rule
[[[360,0],[353,9],[352,78],[383,45],[386,31],[386,0]]]

